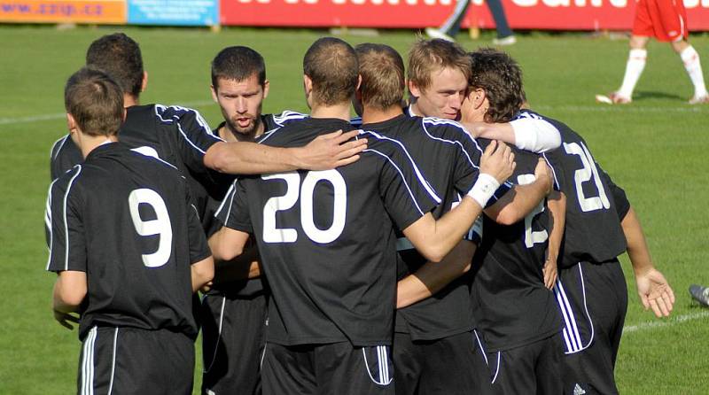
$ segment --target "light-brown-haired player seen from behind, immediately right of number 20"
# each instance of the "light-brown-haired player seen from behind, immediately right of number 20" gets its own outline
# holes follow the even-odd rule
[[[454,207],[479,173],[482,154],[478,144],[458,123],[452,120],[421,118],[404,114],[401,100],[405,89],[401,56],[384,44],[365,43],[355,48],[362,82],[356,92],[354,108],[362,114],[362,128],[400,141],[417,162],[425,178],[432,182],[441,203],[433,211],[440,218]],[[460,57],[467,60],[465,52]],[[467,70],[467,69],[466,69]],[[542,164],[541,171],[546,171]],[[546,195],[548,177],[539,177],[534,185],[519,187],[518,196],[525,197],[528,207],[512,202],[508,210],[526,215]],[[496,195],[501,197],[507,187]],[[503,211],[491,200],[490,212]],[[501,204],[502,205],[502,204]],[[511,207],[516,205],[516,207]],[[502,213],[502,215],[509,215]],[[517,220],[511,220],[517,221]],[[467,283],[457,281],[440,290],[432,298],[416,304],[408,298],[417,295],[421,284],[431,286],[428,272],[418,273],[426,259],[399,234],[397,244],[401,256],[399,277],[414,274],[416,278],[401,280],[398,293],[407,300],[396,314],[393,340],[393,362],[398,394],[487,393],[489,375],[486,356],[482,355],[473,333],[470,296]],[[468,236],[471,236],[469,233]],[[436,263],[440,270],[470,267],[475,243],[461,240],[446,259]],[[460,269],[463,273],[464,269]],[[418,287],[411,286],[419,284]],[[445,285],[445,284],[444,284]],[[400,302],[397,301],[397,305]],[[411,306],[409,306],[411,305]],[[400,305],[401,306],[401,305]]]

